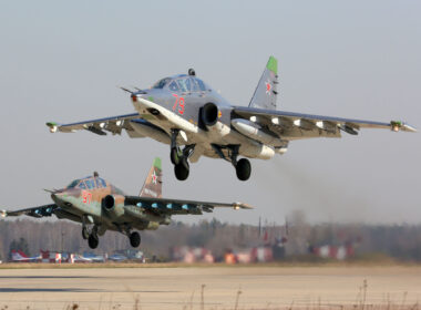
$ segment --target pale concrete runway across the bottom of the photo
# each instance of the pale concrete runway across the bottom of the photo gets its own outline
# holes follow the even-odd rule
[[[364,292],[367,304],[414,304],[421,267],[0,269],[1,309],[331,308]]]

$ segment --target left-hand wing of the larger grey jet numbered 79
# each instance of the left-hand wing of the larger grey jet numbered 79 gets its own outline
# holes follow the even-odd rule
[[[106,135],[106,132],[112,134],[121,134],[125,130],[129,134],[133,132],[131,126],[132,120],[140,118],[137,113],[124,114],[97,120],[83,121],[71,124],[58,124],[53,122],[47,123],[47,126],[50,127],[50,132],[55,133],[57,131],[63,133],[73,133],[75,131],[86,130],[97,135]]]

